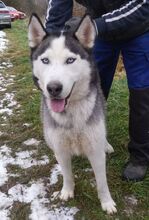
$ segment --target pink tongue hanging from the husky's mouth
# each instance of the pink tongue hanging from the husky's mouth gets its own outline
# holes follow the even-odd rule
[[[51,100],[51,108],[54,112],[63,112],[65,109],[65,99]]]

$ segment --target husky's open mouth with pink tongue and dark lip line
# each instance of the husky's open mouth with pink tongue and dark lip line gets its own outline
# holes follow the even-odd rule
[[[55,99],[50,100],[50,105],[51,105],[52,111],[54,111],[54,112],[63,112],[65,110],[66,106],[68,105],[70,96],[72,94],[74,85],[75,85],[75,83],[73,84],[72,89],[71,89],[69,95],[66,98],[64,98],[64,99],[58,99],[58,98],[56,99],[55,98]]]

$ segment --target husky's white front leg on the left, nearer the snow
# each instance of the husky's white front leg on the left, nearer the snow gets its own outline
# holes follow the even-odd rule
[[[71,167],[71,155],[67,151],[61,151],[56,154],[56,159],[61,166],[63,174],[63,187],[60,199],[67,201],[74,197],[74,179]]]

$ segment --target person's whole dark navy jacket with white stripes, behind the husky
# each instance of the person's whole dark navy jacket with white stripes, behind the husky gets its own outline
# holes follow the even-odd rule
[[[84,5],[104,40],[128,40],[149,31],[149,0],[76,0]],[[73,0],[49,0],[48,32],[61,30],[72,17]]]

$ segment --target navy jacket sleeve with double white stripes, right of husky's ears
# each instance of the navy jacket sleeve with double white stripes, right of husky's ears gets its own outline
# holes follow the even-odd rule
[[[144,25],[149,29],[149,0],[132,0],[121,8],[95,19],[98,36],[105,40],[125,39]],[[139,31],[138,31],[139,32]]]

